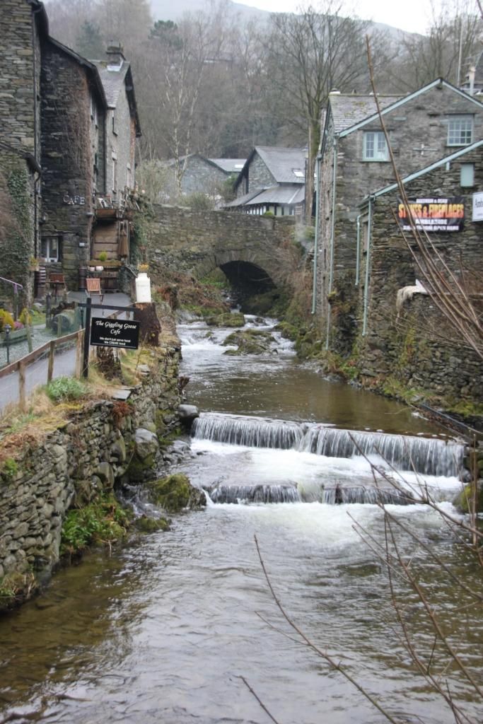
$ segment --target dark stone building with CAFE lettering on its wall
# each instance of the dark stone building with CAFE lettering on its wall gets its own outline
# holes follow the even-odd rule
[[[76,289],[91,258],[96,194],[105,188],[106,98],[94,64],[44,38],[41,72],[41,258]]]

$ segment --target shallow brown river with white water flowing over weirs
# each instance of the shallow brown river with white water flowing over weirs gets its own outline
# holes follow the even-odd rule
[[[384,722],[282,618],[255,535],[290,618],[394,720],[452,722],[398,639],[385,566],[361,539],[384,542],[382,511],[370,502],[371,467],[359,453],[364,447],[369,460],[390,469],[410,468],[408,460],[425,468],[406,471],[404,485],[415,489],[424,479],[454,514],[458,445],[403,405],[299,366],[280,338],[269,354],[240,358],[224,355],[231,330],[196,323],[179,331],[188,401],[203,413],[190,453],[173,470],[210,489],[206,509],[111,555],[88,555],[0,621],[0,723],[269,723],[260,702],[280,724]],[[406,436],[403,445],[392,434]],[[383,463],[382,450],[393,463]],[[471,558],[440,515],[416,504],[387,510],[482,593]],[[408,533],[397,535],[481,682],[481,606]],[[421,603],[402,581],[394,585],[412,640],[442,670],[448,657],[438,647],[432,654]],[[446,675],[478,720],[464,676],[452,665]]]

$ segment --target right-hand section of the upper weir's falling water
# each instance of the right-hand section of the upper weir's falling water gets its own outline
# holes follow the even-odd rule
[[[299,450],[329,458],[379,455],[398,470],[425,475],[458,476],[463,466],[463,445],[427,437],[390,435],[313,426]]]

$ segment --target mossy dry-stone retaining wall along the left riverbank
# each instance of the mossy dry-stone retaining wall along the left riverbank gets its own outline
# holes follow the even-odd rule
[[[26,599],[49,578],[61,556],[62,526],[82,508],[156,465],[162,439],[179,424],[180,349],[143,365],[126,400],[79,405],[68,421],[37,442],[25,440],[0,465],[0,610]]]

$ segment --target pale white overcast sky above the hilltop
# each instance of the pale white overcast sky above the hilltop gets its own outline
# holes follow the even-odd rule
[[[270,12],[295,12],[301,7],[300,0],[239,0]],[[317,0],[312,4],[317,7]],[[385,22],[411,33],[424,33],[432,15],[431,0],[358,0],[348,2],[346,7],[363,20]],[[433,0],[434,7],[442,7],[442,0]],[[451,3],[452,4],[452,3]],[[304,3],[305,7],[308,1]],[[476,2],[475,2],[476,5]]]

